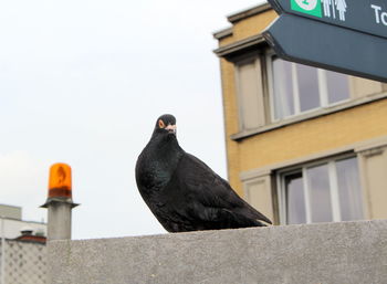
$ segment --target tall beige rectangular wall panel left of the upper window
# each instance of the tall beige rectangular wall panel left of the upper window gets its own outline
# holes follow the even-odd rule
[[[239,120],[241,130],[263,126],[261,61],[258,55],[236,63]]]

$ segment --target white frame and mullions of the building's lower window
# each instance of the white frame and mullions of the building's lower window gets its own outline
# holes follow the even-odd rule
[[[339,222],[342,221],[341,217],[341,208],[339,208],[339,197],[338,197],[338,181],[337,181],[337,170],[336,170],[336,161],[349,159],[349,158],[356,158],[357,162],[359,162],[358,157],[354,154],[347,154],[347,155],[341,155],[338,157],[333,158],[326,158],[323,160],[308,162],[300,166],[295,166],[292,168],[287,168],[284,170],[280,170],[276,173],[276,185],[278,185],[278,199],[279,199],[279,206],[280,206],[280,224],[287,224],[287,218],[286,218],[286,188],[285,188],[285,177],[290,175],[294,175],[296,172],[302,172],[302,181],[303,181],[303,188],[304,188],[304,198],[305,198],[305,221],[307,224],[312,223],[312,210],[311,210],[311,200],[310,200],[310,185],[307,181],[307,173],[306,169],[317,166],[327,165],[328,167],[328,179],[330,179],[330,189],[331,189],[331,206],[332,206],[332,222]],[[360,176],[360,172],[358,172]],[[359,177],[360,178],[360,177]],[[362,192],[362,190],[360,190]],[[363,208],[363,214],[364,214],[364,208]],[[363,215],[364,217],[364,215]]]

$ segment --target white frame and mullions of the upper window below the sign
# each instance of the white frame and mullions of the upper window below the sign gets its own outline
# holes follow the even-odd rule
[[[318,97],[320,97],[320,106],[315,108],[311,108],[304,112],[301,112],[300,107],[300,91],[299,91],[299,83],[297,83],[297,72],[296,72],[296,64],[294,62],[290,62],[292,64],[292,85],[293,85],[293,103],[294,103],[294,114],[289,115],[282,118],[275,118],[274,117],[274,77],[273,77],[273,65],[272,60],[275,56],[274,52],[268,52],[266,53],[266,70],[268,70],[268,78],[269,78],[269,104],[270,104],[270,118],[272,123],[284,120],[287,118],[292,118],[299,115],[313,113],[316,109],[327,108],[335,105],[339,105],[343,103],[346,103],[351,99],[351,94],[348,98],[338,101],[336,103],[328,103],[328,90],[327,90],[327,82],[326,82],[326,71],[323,69],[316,69],[317,70],[317,80],[318,80]],[[348,77],[349,78],[349,77]]]

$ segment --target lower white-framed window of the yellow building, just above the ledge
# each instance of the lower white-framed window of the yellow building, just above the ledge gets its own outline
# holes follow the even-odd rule
[[[279,175],[281,223],[363,218],[356,157],[312,164]]]

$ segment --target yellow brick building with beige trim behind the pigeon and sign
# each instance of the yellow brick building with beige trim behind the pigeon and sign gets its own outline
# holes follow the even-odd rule
[[[279,59],[269,4],[219,42],[231,186],[276,224],[387,218],[387,84]]]

